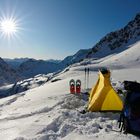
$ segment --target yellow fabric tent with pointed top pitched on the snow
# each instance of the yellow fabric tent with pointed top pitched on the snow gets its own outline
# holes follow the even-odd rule
[[[123,102],[110,84],[110,71],[103,74],[92,88],[89,97],[89,111],[121,111]]]

